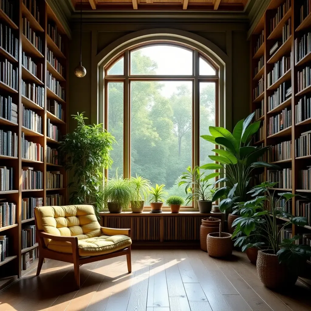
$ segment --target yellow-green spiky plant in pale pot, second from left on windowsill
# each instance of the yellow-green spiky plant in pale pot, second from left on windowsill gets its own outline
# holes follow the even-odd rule
[[[136,174],[131,177],[132,187],[131,209],[133,213],[142,213],[144,204],[149,195],[150,181]]]

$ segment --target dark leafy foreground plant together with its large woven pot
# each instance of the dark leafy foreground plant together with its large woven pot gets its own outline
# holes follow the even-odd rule
[[[294,217],[285,211],[285,204],[296,195],[286,192],[278,193],[279,197],[275,197],[275,191],[271,193],[269,188],[276,184],[264,182],[249,191],[253,199],[239,204],[241,216],[233,222],[235,230],[232,235],[236,238],[235,245],[244,245],[244,250],[253,246],[260,248],[258,244],[247,243],[248,237],[252,236],[258,236],[267,245],[267,250],[258,251],[257,271],[262,283],[272,289],[294,285],[298,278],[299,267],[302,267],[311,256],[311,247],[298,243],[301,236],[283,239],[280,243],[284,228],[293,224],[304,226],[307,219]],[[279,208],[281,199],[285,199],[284,205]],[[265,208],[265,204],[269,210]],[[276,219],[279,217],[288,221],[278,226]]]

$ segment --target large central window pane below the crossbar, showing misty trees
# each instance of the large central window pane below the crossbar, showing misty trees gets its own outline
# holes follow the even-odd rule
[[[186,198],[178,182],[191,164],[192,82],[131,82],[131,175]]]

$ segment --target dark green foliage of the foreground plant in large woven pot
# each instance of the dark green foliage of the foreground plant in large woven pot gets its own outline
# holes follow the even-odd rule
[[[311,247],[309,245],[299,245],[297,240],[301,236],[294,236],[291,239],[283,239],[280,243],[280,235],[284,228],[297,225],[304,226],[307,224],[305,217],[294,217],[292,214],[285,211],[285,204],[295,197],[295,194],[290,192],[278,193],[279,197],[275,197],[275,190],[272,188],[277,183],[264,182],[253,187],[249,194],[253,199],[239,203],[236,210],[239,210],[240,217],[234,220],[232,226],[235,227],[232,238],[236,238],[234,245],[243,246],[243,250],[248,247],[258,247],[260,244],[267,245],[272,253],[278,256],[280,263],[288,264],[289,266],[299,265],[311,256]],[[280,204],[284,200],[284,204]],[[266,209],[269,207],[269,210]],[[277,218],[286,218],[288,221],[281,227],[277,225]],[[248,243],[249,238],[257,237],[261,242]]]

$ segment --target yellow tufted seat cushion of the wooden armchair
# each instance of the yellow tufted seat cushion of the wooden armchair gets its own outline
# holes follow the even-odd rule
[[[98,256],[116,252],[131,244],[131,239],[126,235],[101,235],[79,240],[78,250],[80,256]],[[72,254],[72,247],[69,242],[50,240],[47,247],[56,252]]]

